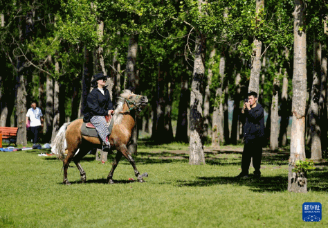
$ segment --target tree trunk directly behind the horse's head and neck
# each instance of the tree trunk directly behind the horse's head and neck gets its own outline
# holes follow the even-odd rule
[[[127,49],[127,67],[125,68],[125,78],[127,84],[125,85],[126,89],[131,90],[132,92],[136,92],[138,80],[136,76],[136,57],[138,51],[138,38],[139,35],[130,35],[129,37],[129,47]],[[136,120],[137,116],[134,116]],[[132,131],[131,143],[128,147],[131,155],[137,155],[137,139],[138,139],[138,125],[136,121],[136,125],[134,126],[134,130]]]

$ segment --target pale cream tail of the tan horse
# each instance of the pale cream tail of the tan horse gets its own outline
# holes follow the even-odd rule
[[[57,158],[64,161],[66,150],[66,128],[69,123],[64,123],[58,131],[55,139],[51,143],[51,152],[53,152]]]

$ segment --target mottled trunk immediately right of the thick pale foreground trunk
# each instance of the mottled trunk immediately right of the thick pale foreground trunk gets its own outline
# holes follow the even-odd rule
[[[320,130],[320,80],[321,80],[321,44],[314,42],[313,47],[313,82],[311,89],[311,160],[319,161],[322,159],[321,153],[321,130]]]

